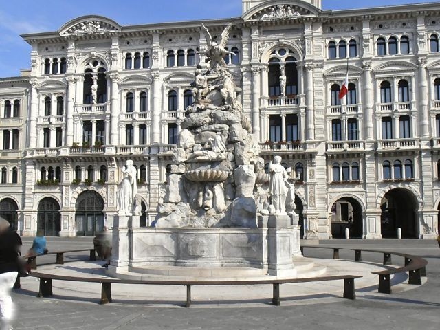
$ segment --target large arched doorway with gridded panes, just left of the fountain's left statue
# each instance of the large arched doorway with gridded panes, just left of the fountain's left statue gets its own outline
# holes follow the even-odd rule
[[[104,230],[104,199],[93,190],[82,192],[76,200],[76,234],[95,236]]]

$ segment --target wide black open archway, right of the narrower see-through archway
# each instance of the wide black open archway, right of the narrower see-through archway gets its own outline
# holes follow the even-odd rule
[[[388,191],[380,204],[382,214],[380,223],[384,239],[397,238],[397,228],[401,228],[404,238],[416,237],[417,200],[404,188]]]

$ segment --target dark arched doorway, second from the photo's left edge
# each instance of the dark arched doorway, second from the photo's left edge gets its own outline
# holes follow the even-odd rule
[[[40,201],[37,215],[36,230],[44,236],[59,236],[60,205],[58,201],[47,197]]]

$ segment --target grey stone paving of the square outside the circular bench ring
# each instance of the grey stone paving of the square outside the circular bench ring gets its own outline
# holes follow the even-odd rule
[[[30,241],[23,242],[25,247]],[[145,305],[98,305],[83,301],[36,298],[17,290],[19,307],[14,329],[439,329],[440,248],[433,241],[331,240],[321,245],[391,250],[423,256],[429,262],[428,283],[392,295],[363,296],[338,303],[259,308],[158,308]],[[50,239],[50,250],[88,248],[91,239]],[[309,251],[309,252],[308,252]],[[331,258],[331,251],[306,250],[306,256]],[[340,254],[353,260],[353,252]],[[380,262],[380,254],[363,254],[364,262]],[[398,259],[393,260],[400,264]],[[44,260],[41,260],[44,263]]]

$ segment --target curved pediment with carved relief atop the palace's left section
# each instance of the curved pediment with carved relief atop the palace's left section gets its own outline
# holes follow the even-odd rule
[[[102,16],[84,16],[69,21],[58,32],[61,36],[80,36],[91,34],[106,34],[120,31],[121,26],[111,19]]]

